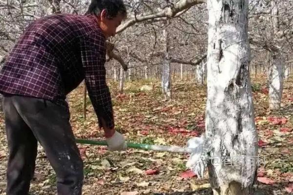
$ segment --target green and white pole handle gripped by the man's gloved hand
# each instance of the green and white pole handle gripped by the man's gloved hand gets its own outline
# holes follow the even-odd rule
[[[76,139],[76,143],[99,145],[99,146],[107,145],[107,142],[105,140],[90,140],[90,139]],[[128,143],[128,142],[127,142],[127,148],[174,152],[174,153],[195,153],[197,151],[197,148],[184,148],[179,146],[165,146],[165,145],[149,145],[149,144]]]

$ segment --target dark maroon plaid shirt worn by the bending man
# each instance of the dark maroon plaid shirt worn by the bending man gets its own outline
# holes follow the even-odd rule
[[[32,22],[0,70],[0,93],[67,106],[66,95],[85,79],[99,118],[114,127],[106,85],[105,37],[93,16],[57,14]]]

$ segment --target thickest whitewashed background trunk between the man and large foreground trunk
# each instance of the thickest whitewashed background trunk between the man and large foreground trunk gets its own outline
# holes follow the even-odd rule
[[[165,39],[165,56],[163,60],[162,67],[162,91],[165,96],[165,100],[172,98],[171,92],[171,67],[170,67],[170,58],[169,58],[169,35],[167,30],[163,30],[163,37]]]

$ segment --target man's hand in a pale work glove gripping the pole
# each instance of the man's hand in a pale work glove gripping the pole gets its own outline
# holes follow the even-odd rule
[[[115,131],[112,137],[106,137],[108,144],[108,150],[110,151],[122,151],[127,149],[125,138],[122,134]]]

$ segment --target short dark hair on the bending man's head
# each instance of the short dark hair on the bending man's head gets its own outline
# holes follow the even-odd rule
[[[118,14],[125,18],[127,15],[123,0],[92,0],[85,14],[99,16],[103,9],[106,10],[108,19],[112,19]]]

